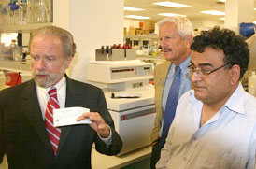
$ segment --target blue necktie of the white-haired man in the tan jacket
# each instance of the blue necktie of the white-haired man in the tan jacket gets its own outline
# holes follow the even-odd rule
[[[178,92],[180,87],[180,68],[177,65],[175,67],[175,77],[173,79],[173,83],[171,86],[171,89],[168,94],[165,110],[164,110],[164,124],[163,124],[163,132],[160,139],[160,146],[161,148],[164,147],[165,139],[167,137],[167,134],[169,132],[169,128],[174,120],[175,112],[176,112],[176,106],[178,104]]]

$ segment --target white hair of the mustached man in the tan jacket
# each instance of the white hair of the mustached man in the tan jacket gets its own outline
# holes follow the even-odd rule
[[[161,21],[158,21],[158,26],[161,27],[164,25],[166,22],[173,22],[175,23],[177,29],[178,29],[178,34],[182,37],[185,38],[188,35],[192,35],[193,37],[193,26],[192,22],[185,17],[180,17],[180,16],[175,16],[175,17],[167,17],[164,18]]]

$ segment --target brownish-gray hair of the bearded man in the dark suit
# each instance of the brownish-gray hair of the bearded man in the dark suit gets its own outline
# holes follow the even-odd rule
[[[56,26],[44,26],[38,28],[30,35],[29,50],[31,48],[31,42],[36,35],[51,35],[60,38],[63,44],[65,57],[74,57],[76,53],[76,44],[74,43],[73,35],[68,31]]]

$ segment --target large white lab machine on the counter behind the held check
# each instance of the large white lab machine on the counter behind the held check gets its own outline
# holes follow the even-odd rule
[[[154,125],[153,65],[139,60],[94,62],[88,65],[87,80],[103,89],[107,108],[123,147],[119,155],[151,143]]]

